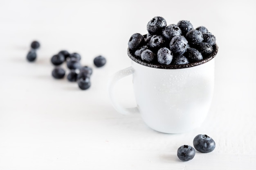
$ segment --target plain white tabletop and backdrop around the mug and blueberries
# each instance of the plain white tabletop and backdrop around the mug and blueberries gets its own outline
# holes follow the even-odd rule
[[[0,0],[0,169],[254,169],[255,9],[253,0]],[[189,133],[158,133],[139,114],[123,116],[110,103],[110,76],[130,66],[130,36],[146,34],[155,16],[206,26],[217,39],[211,109]],[[33,40],[41,48],[29,63]],[[90,89],[52,78],[50,58],[63,49],[93,68]],[[107,58],[103,68],[92,62],[99,54]],[[131,78],[116,91],[122,105],[135,106]],[[216,149],[180,161],[177,148],[193,145],[198,134],[213,137]]]

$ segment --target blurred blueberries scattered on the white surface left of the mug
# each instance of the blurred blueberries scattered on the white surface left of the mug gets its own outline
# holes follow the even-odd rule
[[[27,54],[28,61],[35,61],[36,59],[36,49],[40,46],[38,41],[33,41],[31,43],[31,50]],[[55,54],[51,58],[51,62],[56,66],[52,70],[52,76],[56,79],[61,79],[65,77],[65,70],[61,67],[63,63],[66,62],[67,68],[70,70],[67,74],[67,80],[70,82],[77,82],[80,89],[88,89],[91,86],[90,76],[92,75],[92,68],[88,66],[81,66],[81,55],[74,52],[69,53],[67,50],[61,50],[58,54]],[[95,57],[94,65],[99,68],[106,64],[106,58],[103,56]]]

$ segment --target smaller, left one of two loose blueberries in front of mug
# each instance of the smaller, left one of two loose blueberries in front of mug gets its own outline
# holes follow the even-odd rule
[[[177,156],[182,161],[190,161],[195,156],[195,149],[189,145],[182,145],[177,150]]]

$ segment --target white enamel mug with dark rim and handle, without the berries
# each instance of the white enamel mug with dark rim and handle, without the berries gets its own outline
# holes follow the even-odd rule
[[[214,52],[196,63],[153,65],[135,58],[130,67],[117,72],[109,84],[112,105],[122,113],[141,113],[144,122],[162,133],[183,133],[199,127],[207,116],[214,86]],[[132,74],[137,107],[124,108],[114,94],[115,83]]]

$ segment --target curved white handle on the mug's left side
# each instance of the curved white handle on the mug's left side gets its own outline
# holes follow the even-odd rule
[[[121,78],[124,78],[126,76],[129,76],[130,74],[134,73],[134,69],[130,66],[128,68],[125,68],[123,70],[120,70],[112,76],[112,78],[109,81],[108,85],[108,92],[110,96],[110,100],[112,102],[112,105],[114,108],[121,114],[127,115],[130,113],[139,113],[138,107],[131,107],[131,108],[125,108],[120,105],[120,103],[117,101],[117,98],[115,97],[114,93],[114,87],[117,81],[119,81]]]

